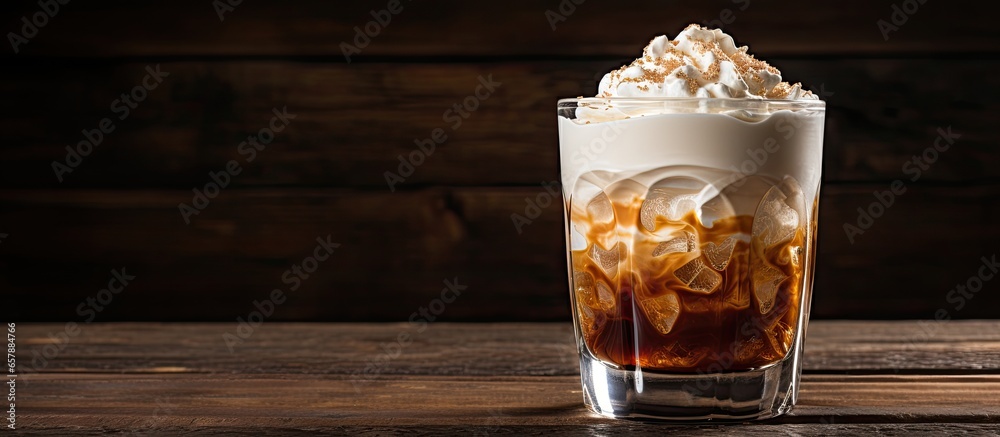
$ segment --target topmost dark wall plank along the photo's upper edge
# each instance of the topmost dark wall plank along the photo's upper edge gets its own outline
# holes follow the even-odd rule
[[[969,13],[980,10],[980,3],[972,0],[922,4],[897,31],[888,34],[888,40],[877,22],[892,20],[890,2],[779,5],[689,0],[664,7],[653,0],[625,0],[591,2],[573,10],[563,6],[561,12],[560,3],[402,2],[402,10],[384,28],[372,25],[371,31],[378,32],[367,46],[361,47],[359,57],[633,55],[653,35],[676,34],[688,23],[720,19],[730,22],[723,24],[724,28],[739,42],[750,43],[755,52],[765,55],[995,53],[1000,42],[1000,33],[991,25],[989,14]],[[386,5],[382,0],[350,4],[320,0],[280,5],[246,3],[223,14],[224,20],[220,20],[212,3],[198,1],[171,2],[169,6],[130,2],[65,5],[51,23],[20,47],[20,54],[294,55],[343,60],[341,43],[351,42],[356,34],[354,27],[364,27],[372,21],[371,13]],[[25,1],[0,22],[5,29],[20,30],[20,17],[38,10],[36,2]],[[554,29],[546,16],[550,10],[565,18],[554,21]]]

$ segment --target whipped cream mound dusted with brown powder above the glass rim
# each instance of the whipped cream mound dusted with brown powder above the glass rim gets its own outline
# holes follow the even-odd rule
[[[817,99],[801,84],[737,47],[719,29],[689,25],[677,38],[653,38],[641,58],[601,79],[597,97]]]

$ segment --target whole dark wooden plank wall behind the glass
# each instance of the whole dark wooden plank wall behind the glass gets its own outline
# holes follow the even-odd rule
[[[1000,252],[1000,30],[986,3],[930,0],[886,41],[893,3],[589,0],[553,31],[557,1],[404,0],[347,63],[340,43],[385,1],[244,1],[224,20],[209,0],[70,2],[0,50],[3,316],[80,320],[125,267],[100,321],[231,321],[274,288],[275,320],[402,320],[456,277],[444,319],[566,320],[558,202],[523,233],[511,221],[558,179],[555,100],[726,9],[738,42],[829,102],[814,316],[1000,316],[1000,279],[946,301]],[[4,9],[11,32],[39,7]],[[59,182],[52,161],[157,64],[170,76]],[[502,85],[452,130],[442,113],[490,75]],[[286,106],[247,163],[238,144]],[[843,224],[949,126],[961,138],[852,244]],[[384,172],[435,128],[447,141],[391,192]],[[242,173],[185,224],[178,203],[230,159]],[[282,273],[327,235],[341,246],[290,291]]]

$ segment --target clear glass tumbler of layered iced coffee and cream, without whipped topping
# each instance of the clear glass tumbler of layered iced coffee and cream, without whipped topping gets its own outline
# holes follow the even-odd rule
[[[809,318],[825,103],[558,103],[584,402],[611,417],[774,417]]]

